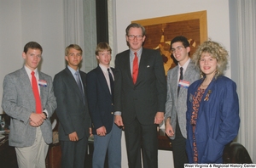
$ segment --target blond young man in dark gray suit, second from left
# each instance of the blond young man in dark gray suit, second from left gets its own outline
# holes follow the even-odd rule
[[[79,45],[66,48],[67,68],[55,75],[56,114],[60,120],[61,167],[84,168],[90,137],[90,115],[86,98],[86,74],[79,70],[83,51]]]

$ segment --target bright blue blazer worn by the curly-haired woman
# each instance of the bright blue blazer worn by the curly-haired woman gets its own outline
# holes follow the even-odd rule
[[[187,99],[187,142],[189,163],[193,160],[193,132],[190,124],[193,96],[204,79],[189,86]],[[213,78],[201,98],[195,128],[198,163],[222,163],[224,146],[239,130],[239,104],[236,83],[225,76]]]

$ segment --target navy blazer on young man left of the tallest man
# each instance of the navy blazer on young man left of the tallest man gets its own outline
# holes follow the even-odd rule
[[[113,126],[113,98],[100,66],[87,74],[86,88],[93,134],[101,126],[109,133]]]

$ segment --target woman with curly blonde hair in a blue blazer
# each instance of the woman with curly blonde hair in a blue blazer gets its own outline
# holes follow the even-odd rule
[[[193,55],[201,79],[189,86],[187,141],[189,163],[222,163],[224,146],[238,132],[236,83],[224,76],[228,52],[218,42],[203,42]]]

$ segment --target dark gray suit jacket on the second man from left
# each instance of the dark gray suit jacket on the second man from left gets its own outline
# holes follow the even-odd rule
[[[86,74],[79,71],[85,94],[85,104],[82,93],[68,68],[55,75],[54,87],[58,107],[56,114],[60,120],[59,138],[61,141],[69,141],[68,134],[77,132],[79,139],[90,136],[90,115],[86,98]]]

